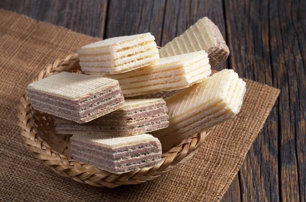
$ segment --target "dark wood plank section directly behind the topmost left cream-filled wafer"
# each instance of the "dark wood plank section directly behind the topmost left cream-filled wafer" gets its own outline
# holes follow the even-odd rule
[[[160,45],[165,0],[110,1],[106,38],[150,32]]]

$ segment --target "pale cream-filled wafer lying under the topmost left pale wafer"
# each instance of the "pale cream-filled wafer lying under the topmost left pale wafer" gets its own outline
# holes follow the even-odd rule
[[[134,71],[106,75],[119,81],[124,97],[184,89],[211,74],[205,51],[160,59],[155,65]]]

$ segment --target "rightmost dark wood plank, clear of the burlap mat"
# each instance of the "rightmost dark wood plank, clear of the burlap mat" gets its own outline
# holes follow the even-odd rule
[[[281,198],[305,201],[306,54],[301,44],[305,42],[305,2],[273,0],[269,10],[274,22],[270,22],[272,67],[282,91],[278,99]]]

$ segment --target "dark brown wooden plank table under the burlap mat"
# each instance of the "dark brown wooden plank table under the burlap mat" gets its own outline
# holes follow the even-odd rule
[[[217,67],[281,89],[222,201],[306,201],[306,1],[20,1],[0,8],[86,35],[151,32],[163,46],[203,16],[231,54]]]

